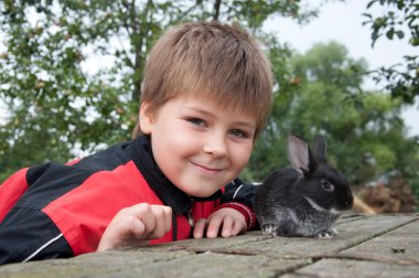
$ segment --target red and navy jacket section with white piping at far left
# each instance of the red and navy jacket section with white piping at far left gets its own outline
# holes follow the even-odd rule
[[[73,256],[50,217],[34,206],[22,205],[36,169],[22,169],[0,185],[0,265]]]

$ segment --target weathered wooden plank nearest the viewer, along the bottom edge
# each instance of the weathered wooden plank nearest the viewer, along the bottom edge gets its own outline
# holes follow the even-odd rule
[[[278,260],[266,256],[227,254],[100,253],[74,259],[54,259],[2,267],[2,278],[55,277],[272,277],[311,264],[307,259]],[[150,256],[151,255],[151,256]],[[153,256],[154,255],[154,256]]]

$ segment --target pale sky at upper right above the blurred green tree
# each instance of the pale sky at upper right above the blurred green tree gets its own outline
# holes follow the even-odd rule
[[[305,1],[310,3],[310,1]],[[369,0],[346,0],[345,2],[332,2],[320,9],[319,17],[312,19],[305,25],[299,25],[290,19],[276,18],[269,20],[266,30],[275,32],[280,42],[287,42],[300,53],[304,53],[315,43],[329,43],[336,41],[346,46],[348,56],[364,58],[369,70],[380,66],[390,66],[402,61],[407,54],[418,55],[418,47],[410,46],[407,40],[389,41],[385,38],[378,40],[372,47],[369,25],[363,26],[366,6]],[[312,4],[311,1],[310,4]],[[383,12],[377,6],[373,10],[375,14]],[[379,88],[372,81],[366,81],[365,89]],[[419,100],[416,105],[404,108],[402,117],[408,127],[408,133],[419,135]]]

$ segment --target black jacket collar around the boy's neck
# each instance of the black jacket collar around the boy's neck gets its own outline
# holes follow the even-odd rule
[[[185,214],[190,211],[192,201],[211,201],[219,199],[223,193],[221,190],[208,197],[187,196],[183,191],[178,189],[160,171],[154,161],[150,138],[140,136],[131,142],[131,156],[138,170],[146,179],[154,193],[163,201],[164,204],[172,207],[176,214]]]

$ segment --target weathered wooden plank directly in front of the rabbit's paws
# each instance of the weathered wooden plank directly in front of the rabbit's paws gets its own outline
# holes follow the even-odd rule
[[[201,238],[187,239],[159,246],[142,247],[150,252],[172,252],[178,249],[190,252],[218,252],[256,255],[267,249],[273,253],[280,252],[282,255],[307,255],[308,250],[313,250],[312,255],[318,256],[324,253],[334,253],[352,247],[357,243],[365,242],[377,235],[394,229],[400,225],[418,220],[418,214],[410,215],[376,215],[350,217],[337,224],[339,235],[331,239],[302,238],[302,237],[276,237],[262,235],[260,231],[248,232],[245,235],[229,238]]]

